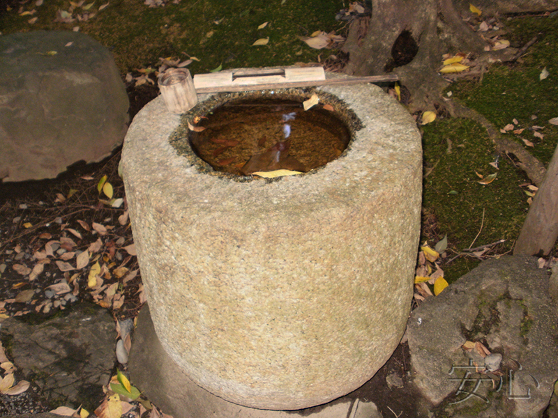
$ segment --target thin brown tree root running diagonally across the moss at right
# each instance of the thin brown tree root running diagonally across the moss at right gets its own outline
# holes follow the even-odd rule
[[[465,107],[460,102],[452,100],[448,102],[448,109],[451,116],[456,118],[468,118],[472,121],[480,123],[488,133],[488,137],[492,139],[499,154],[513,154],[519,160],[518,167],[525,171],[527,176],[531,179],[536,186],[543,183],[543,178],[546,173],[544,165],[538,161],[529,151],[523,148],[520,144],[511,139],[504,137],[497,128],[492,125],[487,118],[479,114],[474,109]]]

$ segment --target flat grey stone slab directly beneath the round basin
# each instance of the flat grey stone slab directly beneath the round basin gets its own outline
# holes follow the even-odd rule
[[[258,410],[225,401],[196,385],[165,352],[148,304],[137,318],[128,368],[133,385],[173,418],[382,418],[374,403],[351,398],[300,411]]]

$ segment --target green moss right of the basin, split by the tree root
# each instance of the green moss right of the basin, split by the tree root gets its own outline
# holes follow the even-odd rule
[[[538,42],[520,62],[493,65],[482,82],[463,81],[447,90],[496,127],[515,119],[516,129],[525,130],[507,135],[548,165],[558,144],[558,126],[548,123],[558,116],[558,56],[553,54],[558,46],[558,17],[518,17],[506,25],[511,31],[508,38],[517,45],[525,45],[535,35]],[[541,80],[543,68],[550,76]],[[543,129],[533,130],[536,125]],[[535,137],[534,132],[541,132],[544,138]],[[534,146],[525,145],[523,139]],[[449,258],[467,249],[475,238],[473,247],[505,239],[496,252],[513,249],[529,210],[528,189],[520,186],[531,183],[515,165],[513,156],[499,156],[498,170],[490,166],[497,157],[494,144],[481,125],[462,119],[425,125],[423,152],[425,173],[433,168],[424,180],[423,206],[426,213],[435,216],[439,229],[439,234],[430,235],[430,239],[443,238],[447,233]],[[497,173],[497,178],[481,185],[476,173]],[[423,236],[423,240],[427,238]],[[458,258],[445,266],[445,277],[451,282],[477,264],[470,256]]]

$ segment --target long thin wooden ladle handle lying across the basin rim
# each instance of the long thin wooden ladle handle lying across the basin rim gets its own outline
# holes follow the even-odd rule
[[[195,76],[197,77],[197,76]],[[194,77],[194,84],[195,84]],[[285,82],[285,83],[270,83],[270,84],[257,84],[255,86],[248,85],[228,85],[228,86],[213,86],[213,87],[196,87],[196,93],[231,93],[235,91],[253,91],[253,90],[274,90],[276,88],[296,88],[296,87],[312,87],[312,86],[334,86],[334,85],[349,85],[349,84],[363,84],[363,83],[382,83],[382,82],[397,82],[399,77],[393,75],[371,75],[368,77],[351,77],[351,78],[335,78],[315,80],[309,82]]]

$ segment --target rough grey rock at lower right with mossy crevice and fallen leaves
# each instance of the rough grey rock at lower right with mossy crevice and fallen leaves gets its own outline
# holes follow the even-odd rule
[[[414,384],[440,405],[437,416],[541,417],[558,378],[557,308],[548,284],[536,258],[502,257],[412,312]],[[497,358],[467,353],[465,341],[482,342]],[[480,373],[485,368],[493,373]]]

